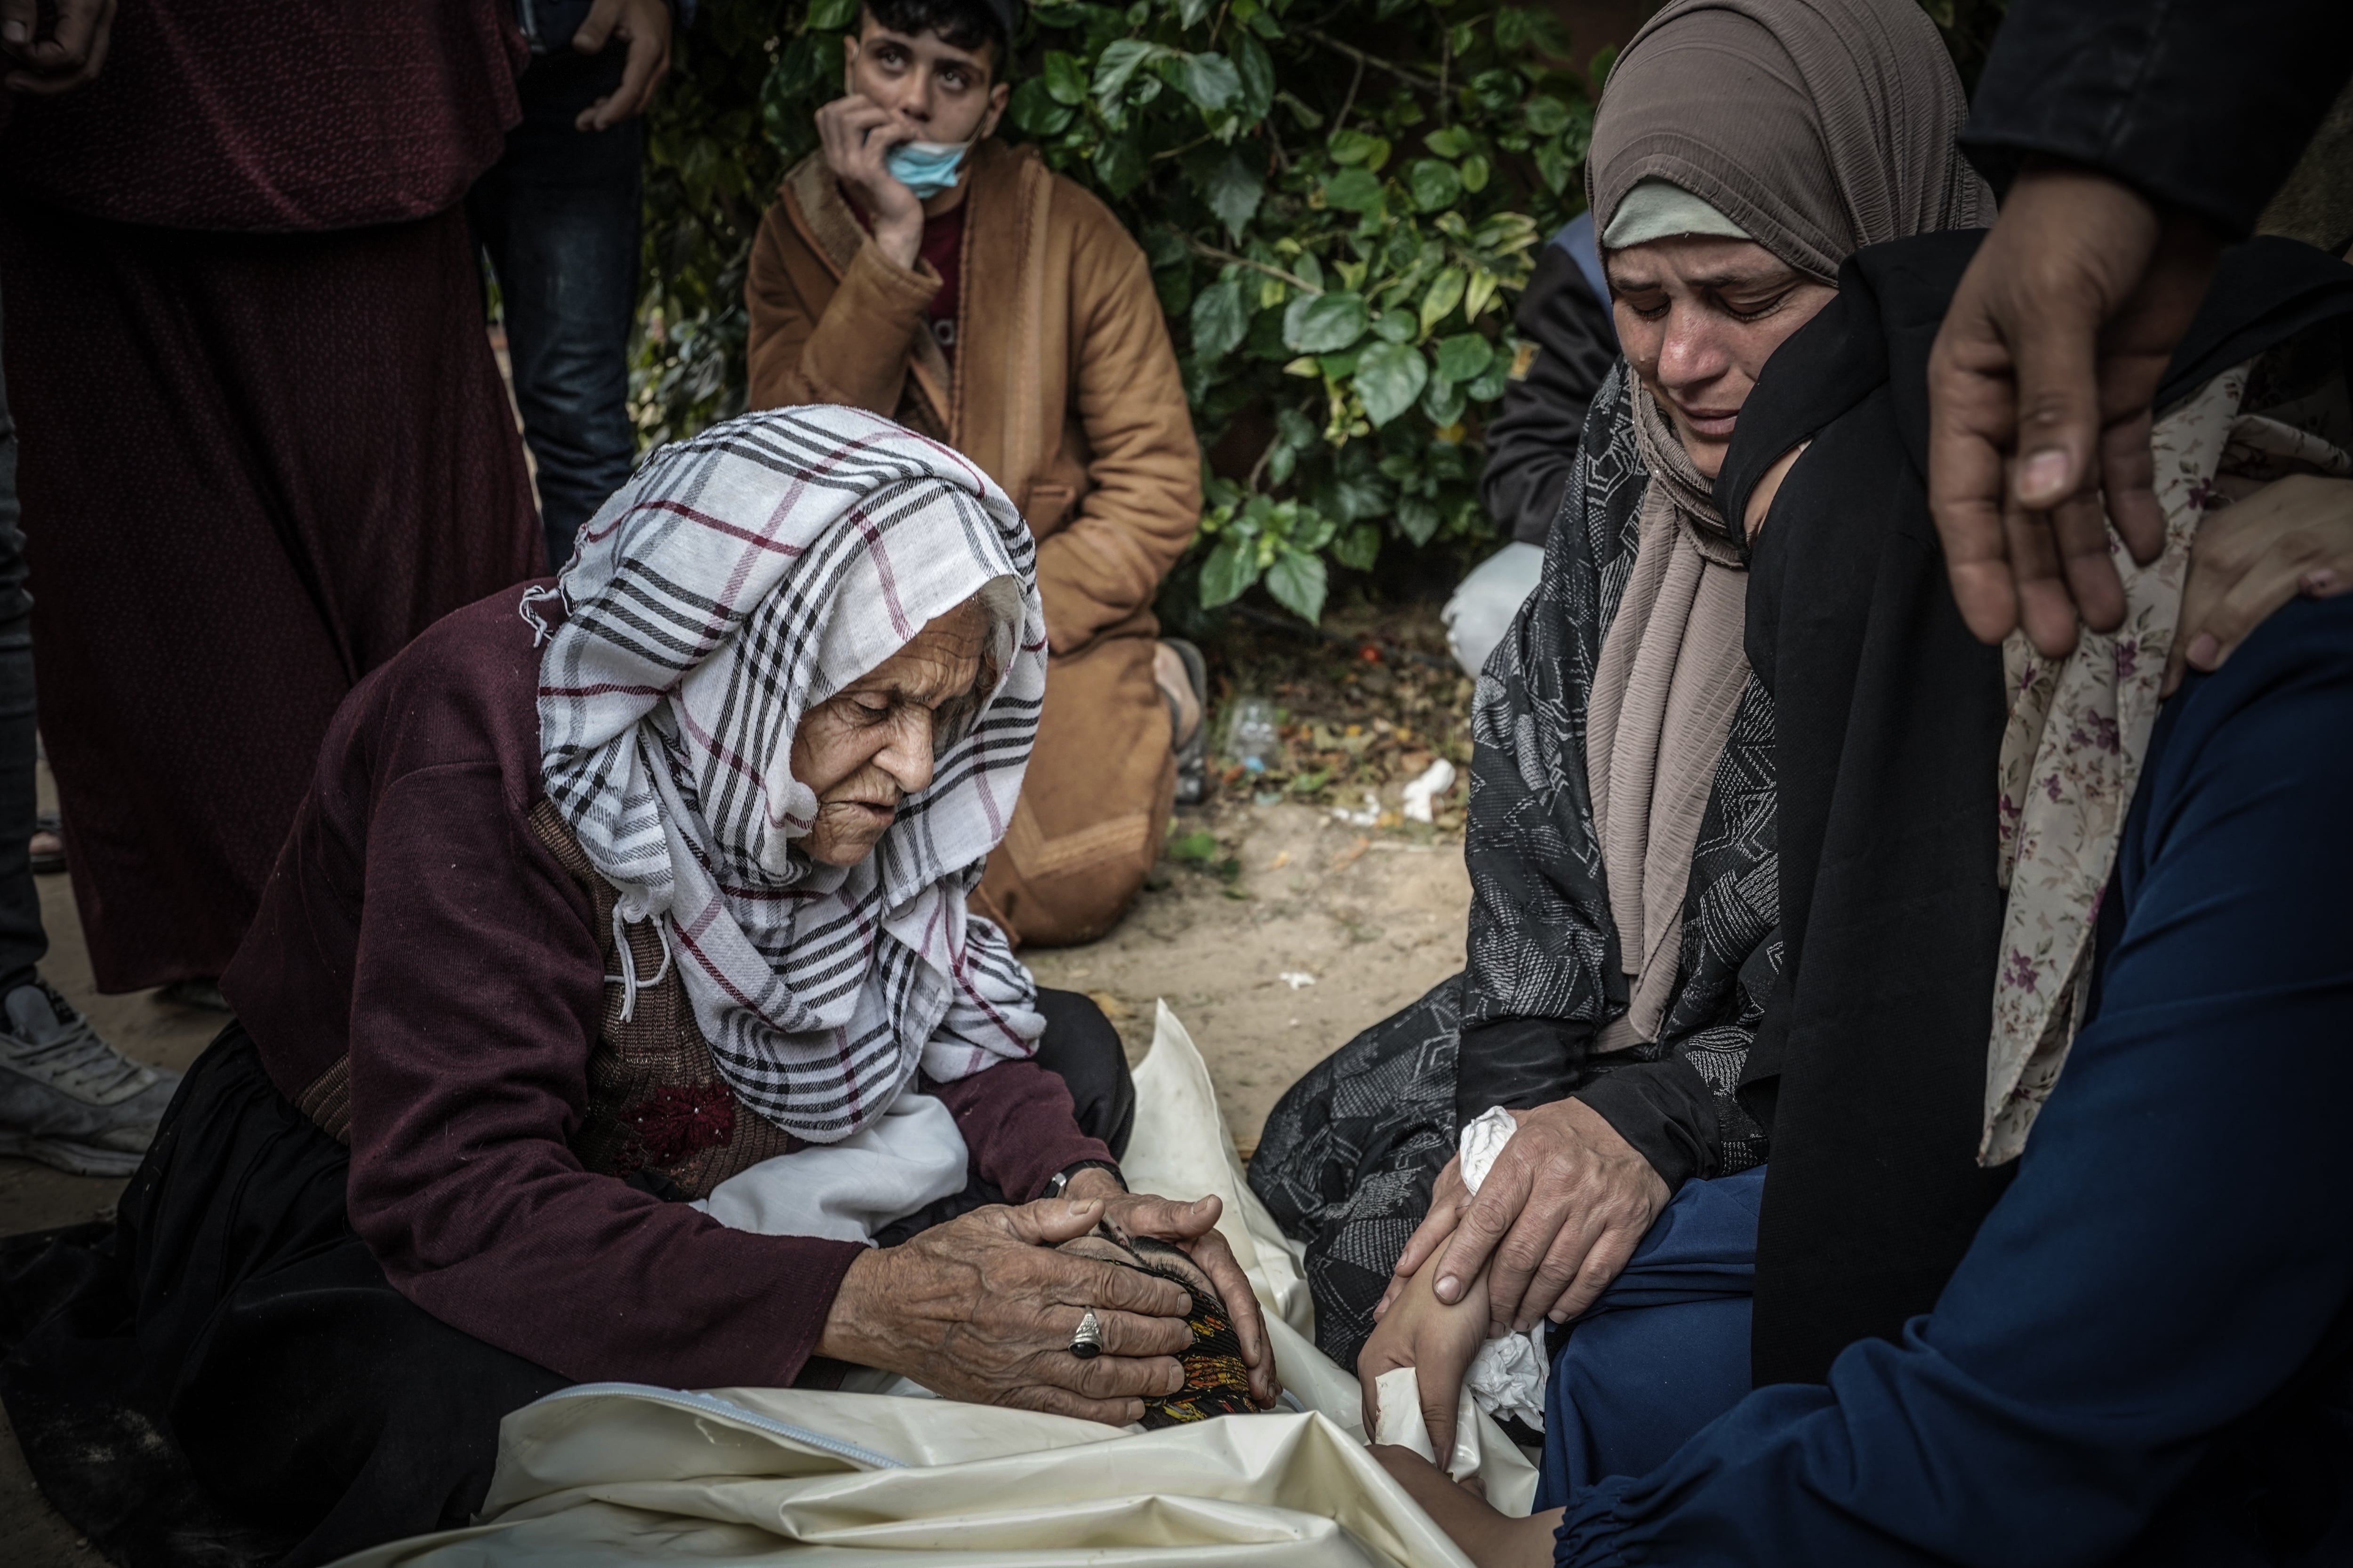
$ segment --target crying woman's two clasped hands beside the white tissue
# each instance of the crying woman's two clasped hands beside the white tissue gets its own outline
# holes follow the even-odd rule
[[[1379,1321],[1355,1361],[1367,1434],[1381,1373],[1412,1366],[1431,1448],[1447,1453],[1480,1342],[1591,1307],[1666,1208],[1659,1173],[1584,1100],[1513,1119],[1518,1131],[1478,1197],[1459,1159],[1438,1173],[1431,1211],[1374,1307]]]

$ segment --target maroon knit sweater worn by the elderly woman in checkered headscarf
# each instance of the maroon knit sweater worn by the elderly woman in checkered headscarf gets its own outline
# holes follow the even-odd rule
[[[351,1222],[419,1307],[584,1382],[793,1382],[861,1248],[727,1229],[569,1150],[605,964],[525,823],[544,790],[520,595],[447,616],[344,701],[221,990],[287,1098],[351,1053]],[[1111,1159],[1035,1063],[936,1093],[1014,1199]]]

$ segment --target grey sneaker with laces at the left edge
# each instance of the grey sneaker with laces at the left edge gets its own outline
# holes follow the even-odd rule
[[[75,1175],[129,1175],[179,1074],[125,1060],[47,980],[0,1004],[0,1154]]]

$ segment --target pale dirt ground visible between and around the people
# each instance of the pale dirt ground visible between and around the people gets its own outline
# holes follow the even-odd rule
[[[1024,954],[1040,985],[1092,994],[1120,1027],[1129,1060],[1151,1044],[1153,1001],[1167,999],[1200,1044],[1245,1154],[1306,1067],[1464,961],[1471,884],[1454,830],[1464,783],[1438,799],[1433,825],[1405,823],[1398,795],[1435,757],[1468,759],[1468,682],[1440,668],[1433,646],[1442,651],[1442,639],[1426,609],[1339,614],[1327,618],[1334,623],[1346,628],[1341,642],[1240,625],[1209,649],[1212,726],[1235,696],[1275,701],[1275,766],[1219,766],[1214,799],[1176,813],[1176,853],[1162,856],[1108,938]],[[52,809],[47,776],[42,790]],[[1334,811],[1372,820],[1337,820]],[[125,1053],[186,1067],[221,1027],[219,1013],[153,992],[99,997],[66,877],[42,879],[42,914],[49,980]],[[120,1180],[0,1159],[0,1234],[108,1215],[120,1190]],[[0,1420],[0,1563],[94,1561],[40,1500]]]

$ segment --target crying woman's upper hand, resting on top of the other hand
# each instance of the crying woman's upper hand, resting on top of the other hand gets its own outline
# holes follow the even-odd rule
[[[1539,1316],[1567,1324],[1591,1307],[1671,1197],[1649,1161],[1584,1100],[1513,1117],[1520,1131],[1433,1265],[1442,1302],[1464,1300],[1466,1281],[1487,1272],[1494,1333],[1525,1333]]]

